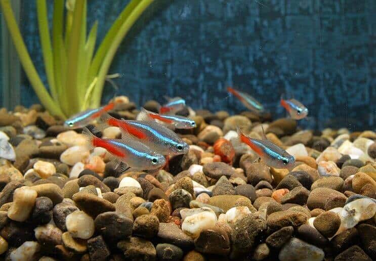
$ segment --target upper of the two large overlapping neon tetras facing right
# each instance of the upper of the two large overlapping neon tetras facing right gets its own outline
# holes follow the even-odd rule
[[[103,114],[101,120],[102,123],[94,127],[94,133],[115,126],[162,155],[185,154],[189,150],[189,145],[176,133],[156,121],[116,119],[108,113]]]

